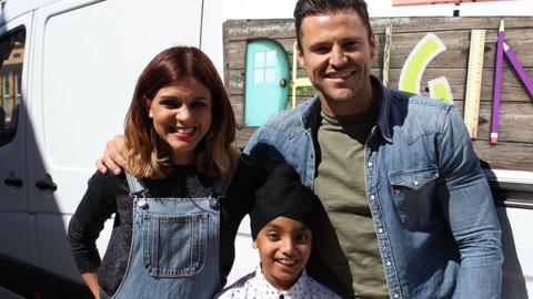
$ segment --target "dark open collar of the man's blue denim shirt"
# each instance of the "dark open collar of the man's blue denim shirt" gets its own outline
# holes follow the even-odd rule
[[[388,90],[383,87],[381,81],[370,75],[370,82],[374,92],[374,100],[380,101],[380,112],[378,115],[376,125],[380,128],[381,136],[392,143],[391,130],[389,125],[389,114],[390,114],[390,106],[391,106],[391,99]],[[319,94],[315,94],[311,101],[306,103],[309,106],[302,113],[302,125],[305,128],[314,128],[316,127],[316,122],[319,120],[321,105],[320,105],[320,97]]]

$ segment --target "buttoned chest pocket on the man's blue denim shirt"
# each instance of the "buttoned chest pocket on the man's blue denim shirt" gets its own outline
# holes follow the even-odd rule
[[[389,174],[394,204],[406,228],[424,230],[431,220],[438,177],[439,169],[432,166]]]

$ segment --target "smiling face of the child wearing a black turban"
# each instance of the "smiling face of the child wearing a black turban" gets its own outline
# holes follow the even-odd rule
[[[311,255],[311,230],[302,223],[276,217],[253,240],[261,270],[276,289],[289,289],[300,277]]]

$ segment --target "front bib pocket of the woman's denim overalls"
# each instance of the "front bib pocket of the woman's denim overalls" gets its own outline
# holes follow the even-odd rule
[[[204,265],[209,215],[185,216],[143,214],[142,259],[154,277],[188,277]]]

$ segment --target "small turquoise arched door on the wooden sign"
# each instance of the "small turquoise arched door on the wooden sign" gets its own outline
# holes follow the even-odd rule
[[[260,126],[284,110],[289,97],[289,64],[280,44],[259,40],[247,47],[244,122]]]

